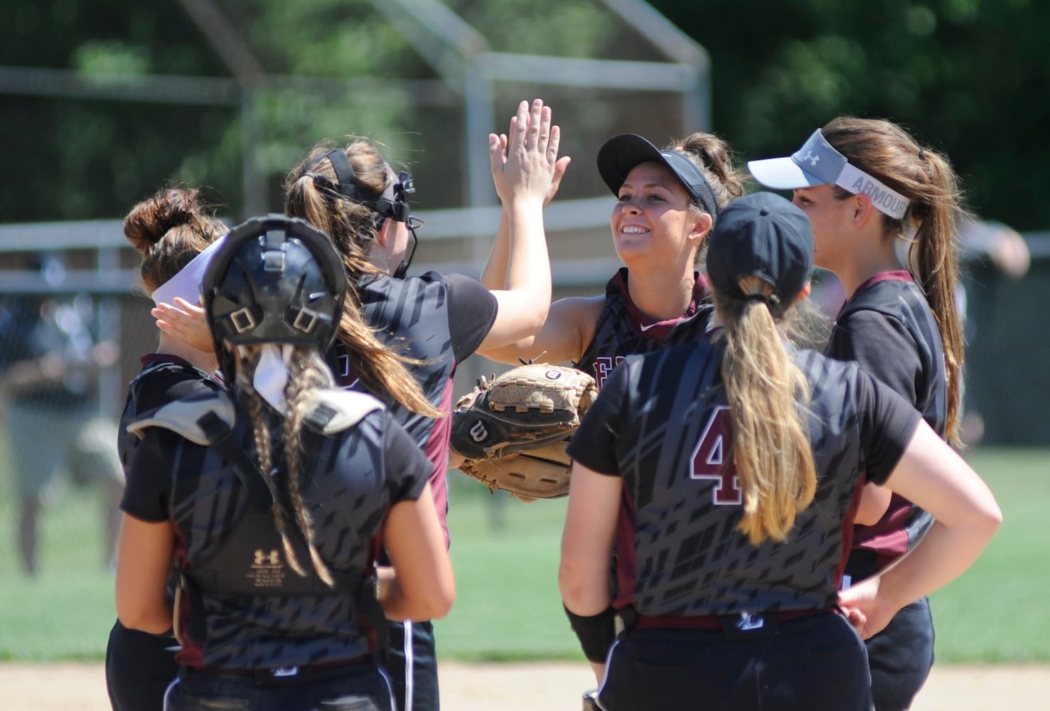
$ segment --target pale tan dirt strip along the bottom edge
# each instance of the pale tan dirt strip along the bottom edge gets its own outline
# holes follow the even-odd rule
[[[442,663],[446,711],[576,711],[593,686],[583,664]],[[0,664],[0,707],[7,711],[109,711],[100,664]],[[914,711],[1043,709],[1050,667],[939,666]]]

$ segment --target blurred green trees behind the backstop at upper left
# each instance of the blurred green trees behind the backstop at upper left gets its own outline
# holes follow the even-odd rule
[[[586,57],[609,34],[588,0],[539,0],[525,16],[514,0],[450,4],[494,50]],[[202,28],[191,6],[222,18]],[[462,202],[459,78],[442,83],[374,2],[8,0],[5,16],[0,151],[18,189],[0,194],[0,221],[112,217],[168,182],[205,186],[239,218],[246,174],[279,209],[285,171],[349,133],[408,165],[429,151],[421,196]],[[76,71],[75,87],[26,78],[38,67]],[[12,77],[32,87],[12,90]]]

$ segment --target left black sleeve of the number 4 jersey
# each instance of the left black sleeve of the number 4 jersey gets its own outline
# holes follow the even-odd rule
[[[616,452],[627,407],[628,378],[626,362],[612,369],[566,449],[573,460],[598,474],[621,476]]]

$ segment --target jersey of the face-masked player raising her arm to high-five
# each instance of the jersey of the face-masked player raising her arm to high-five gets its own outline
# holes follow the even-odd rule
[[[453,409],[453,377],[456,367],[477,350],[496,321],[496,297],[477,280],[460,274],[426,272],[397,279],[386,274],[368,274],[357,283],[364,319],[378,329],[387,347],[418,358],[411,369],[430,404],[444,413]],[[343,388],[363,390],[356,383],[342,343],[334,350],[333,372]],[[452,418],[434,419],[405,410],[390,397],[383,399],[430,460],[430,492],[441,527],[448,542],[445,517],[448,510],[448,436]]]

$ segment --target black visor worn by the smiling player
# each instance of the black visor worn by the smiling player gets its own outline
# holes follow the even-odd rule
[[[620,133],[605,142],[597,151],[597,171],[618,195],[627,173],[639,163],[659,163],[675,174],[696,204],[712,217],[718,216],[718,202],[699,168],[681,153],[660,150],[637,133]]]

